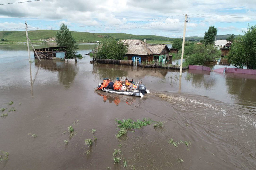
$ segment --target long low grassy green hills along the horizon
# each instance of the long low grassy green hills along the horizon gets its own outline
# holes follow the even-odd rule
[[[48,39],[55,37],[57,30],[37,30],[37,31],[28,31],[28,36],[30,40],[40,41],[42,39]],[[92,41],[101,41],[104,37],[112,36],[115,39],[141,39],[141,40],[156,40],[156,41],[172,41],[176,38],[155,36],[155,35],[132,35],[125,33],[88,33],[88,32],[75,32],[72,31],[72,35],[76,41],[79,42],[92,42]],[[227,35],[217,35],[216,39],[226,39],[230,34]],[[235,36],[237,37],[237,35]],[[7,39],[8,41],[26,41],[26,32],[25,31],[0,31],[0,39]],[[186,41],[200,41],[204,37],[186,37]]]

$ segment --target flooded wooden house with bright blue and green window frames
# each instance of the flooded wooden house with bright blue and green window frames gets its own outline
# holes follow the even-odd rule
[[[148,44],[141,40],[127,39],[120,42],[127,45],[127,58],[133,63],[142,61],[155,61],[157,64],[164,64],[169,56],[170,49],[166,44]]]

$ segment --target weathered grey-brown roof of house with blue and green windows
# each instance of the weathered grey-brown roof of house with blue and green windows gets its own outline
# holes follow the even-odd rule
[[[153,44],[148,44],[148,43],[145,43],[144,41],[135,40],[135,39],[126,39],[126,40],[121,40],[120,42],[123,42],[124,45],[128,45],[128,48],[127,48],[128,51],[126,54],[137,54],[137,55],[160,54],[166,47],[166,44],[153,45]]]

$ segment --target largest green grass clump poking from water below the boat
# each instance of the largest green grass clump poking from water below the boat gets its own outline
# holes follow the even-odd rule
[[[137,121],[133,121],[132,119],[123,119],[123,121],[121,120],[117,120],[117,123],[119,124],[117,127],[120,128],[120,130],[118,131],[116,137],[117,139],[121,138],[122,136],[127,134],[127,130],[132,130],[132,129],[140,129],[143,126],[147,126],[150,125],[151,120],[147,120],[146,118],[143,119],[143,121],[137,119]]]

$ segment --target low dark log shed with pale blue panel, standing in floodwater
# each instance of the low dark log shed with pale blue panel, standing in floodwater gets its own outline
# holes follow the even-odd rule
[[[35,49],[40,59],[64,59],[65,58],[65,47],[48,47]],[[37,58],[34,51],[34,57]]]

